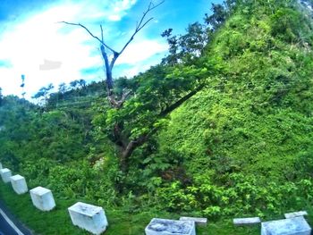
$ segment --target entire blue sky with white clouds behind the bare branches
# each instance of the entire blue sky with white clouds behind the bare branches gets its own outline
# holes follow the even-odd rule
[[[154,3],[158,3],[154,0]],[[221,0],[165,0],[148,15],[154,17],[116,61],[114,77],[131,77],[159,63],[167,52],[160,34],[169,28],[181,34],[189,23],[201,21],[211,2]],[[26,97],[53,83],[103,80],[98,42],[80,22],[106,44],[120,51],[147,9],[148,0],[0,0],[0,88],[21,97],[21,74]]]

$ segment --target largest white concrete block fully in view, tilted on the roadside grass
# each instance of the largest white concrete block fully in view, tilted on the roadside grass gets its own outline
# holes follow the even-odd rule
[[[78,202],[68,208],[72,224],[92,234],[101,234],[108,225],[105,211],[101,206]]]

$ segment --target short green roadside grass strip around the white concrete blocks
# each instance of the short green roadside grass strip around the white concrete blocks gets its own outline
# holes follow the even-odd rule
[[[56,207],[51,212],[41,212],[32,206],[30,194],[16,195],[10,184],[0,183],[0,199],[10,211],[31,231],[42,235],[80,235],[89,234],[72,225],[67,208],[76,200],[55,198]],[[308,221],[313,222],[313,208],[308,209]],[[142,212],[127,214],[123,210],[106,209],[109,227],[106,235],[144,235],[144,229],[153,217],[178,219],[178,214],[164,212]],[[279,218],[275,218],[279,219]],[[208,222],[207,226],[197,228],[198,235],[257,235],[260,226],[235,227],[231,219]]]

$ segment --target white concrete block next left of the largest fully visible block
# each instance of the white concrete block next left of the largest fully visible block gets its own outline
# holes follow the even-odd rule
[[[41,211],[51,211],[55,208],[55,199],[50,189],[37,187],[30,190],[32,204]]]

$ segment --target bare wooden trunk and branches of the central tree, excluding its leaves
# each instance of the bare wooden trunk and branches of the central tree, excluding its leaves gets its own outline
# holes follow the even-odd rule
[[[141,29],[143,29],[148,22],[152,21],[153,18],[148,18],[148,13],[152,10],[156,9],[160,4],[163,4],[165,1],[161,1],[158,4],[153,4],[150,2],[148,4],[148,8],[146,11],[142,14],[140,21],[137,22],[136,27],[134,31],[131,34],[131,38],[129,38],[122,49],[120,51],[114,50],[112,46],[108,46],[105,42],[104,38],[104,30],[102,25],[100,25],[100,32],[101,37],[98,38],[95,36],[86,26],[80,24],[80,23],[72,23],[67,21],[62,21],[65,24],[73,25],[73,26],[79,26],[83,29],[85,29],[89,35],[92,38],[95,38],[100,43],[100,51],[102,58],[104,60],[104,67],[106,69],[106,92],[107,92],[107,99],[109,101],[109,104],[112,108],[121,110],[123,109],[123,104],[126,101],[127,97],[130,95],[129,90],[123,90],[123,94],[120,97],[115,96],[114,94],[114,80],[112,76],[112,71],[114,68],[114,63],[119,58],[120,55],[123,54],[124,50],[127,46],[131,44],[131,41],[134,39],[134,37],[140,32]],[[108,56],[108,53],[112,56]],[[199,92],[204,87],[204,84],[199,84],[198,87],[194,88],[193,90],[190,90],[188,93],[182,94],[182,97],[178,98],[175,102],[173,102],[172,105],[166,105],[164,109],[161,110],[160,113],[156,114],[156,118],[165,118],[166,115],[173,112],[177,107],[182,105],[185,101],[187,101],[190,97],[193,97],[195,94]],[[118,120],[114,122],[114,127],[112,128],[112,133],[110,133],[110,139],[114,142],[116,147],[120,150],[120,155],[118,155],[120,160],[120,167],[122,172],[128,172],[129,170],[129,164],[131,155],[134,152],[134,150],[137,147],[142,146],[144,143],[148,141],[149,138],[151,138],[157,130],[159,130],[159,126],[155,125],[155,122],[151,122],[147,124],[148,131],[145,131],[144,133],[140,134],[139,137],[131,138],[131,135],[124,131],[125,123],[124,120]]]

